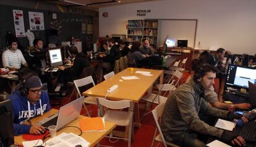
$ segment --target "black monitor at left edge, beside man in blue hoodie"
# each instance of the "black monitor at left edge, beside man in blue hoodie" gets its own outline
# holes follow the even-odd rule
[[[2,145],[10,146],[14,144],[12,104],[9,99],[0,102],[0,126],[0,138],[2,141]]]

